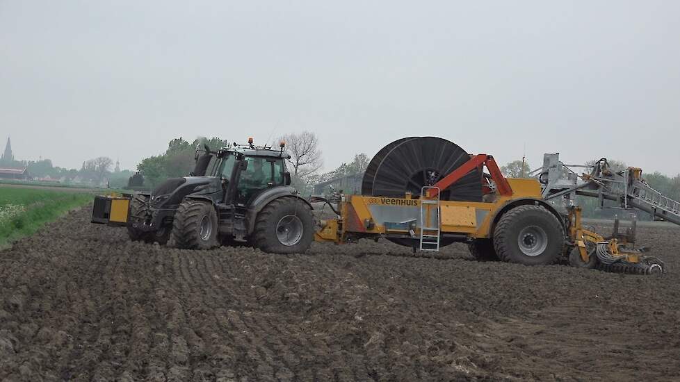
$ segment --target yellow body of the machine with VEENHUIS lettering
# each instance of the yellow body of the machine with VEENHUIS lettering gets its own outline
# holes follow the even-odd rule
[[[439,201],[421,204],[421,199],[346,195],[341,201],[341,216],[325,222],[315,235],[316,241],[344,242],[345,236],[419,235],[422,226],[431,227],[439,206],[439,230],[469,238],[491,238],[494,218],[512,201],[542,202],[541,186],[535,179],[508,178],[512,195],[488,194],[488,201]],[[422,206],[422,210],[421,210]],[[424,222],[421,222],[423,217]]]

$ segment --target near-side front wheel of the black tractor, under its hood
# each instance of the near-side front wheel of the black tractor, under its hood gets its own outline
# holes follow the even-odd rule
[[[172,222],[172,238],[177,248],[217,247],[217,233],[217,213],[212,204],[191,199],[181,202]]]

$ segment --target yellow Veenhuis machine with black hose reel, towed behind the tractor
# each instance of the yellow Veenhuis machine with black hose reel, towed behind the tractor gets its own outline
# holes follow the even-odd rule
[[[525,265],[563,261],[614,272],[663,273],[661,260],[629,248],[633,235],[615,232],[604,238],[583,229],[581,208],[560,213],[554,199],[547,200],[540,176],[505,178],[492,156],[461,151],[432,137],[387,145],[369,163],[362,194],[341,197],[337,219],[323,222],[315,240],[387,238],[421,251],[466,242],[478,260]],[[428,158],[414,160],[413,153]],[[640,169],[631,172],[631,178],[640,179]],[[590,180],[588,174],[584,177]]]

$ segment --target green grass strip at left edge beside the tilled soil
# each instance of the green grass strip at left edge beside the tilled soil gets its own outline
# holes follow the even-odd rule
[[[90,192],[0,188],[0,249],[92,201]]]

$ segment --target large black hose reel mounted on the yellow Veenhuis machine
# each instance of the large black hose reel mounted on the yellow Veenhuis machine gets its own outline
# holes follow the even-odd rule
[[[373,157],[362,181],[362,194],[375,197],[420,196],[423,186],[435,185],[470,159],[457,144],[437,137],[411,137],[391,142]],[[439,194],[441,200],[481,201],[478,169]]]

